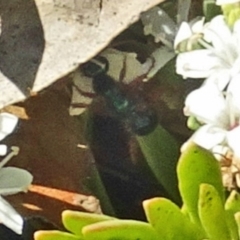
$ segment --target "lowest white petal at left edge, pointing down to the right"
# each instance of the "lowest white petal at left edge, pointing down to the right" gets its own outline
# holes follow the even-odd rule
[[[17,234],[22,234],[23,218],[0,196],[0,222]]]

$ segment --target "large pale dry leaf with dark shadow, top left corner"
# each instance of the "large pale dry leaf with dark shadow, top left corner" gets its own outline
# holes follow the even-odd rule
[[[73,71],[160,2],[1,1],[0,109]]]

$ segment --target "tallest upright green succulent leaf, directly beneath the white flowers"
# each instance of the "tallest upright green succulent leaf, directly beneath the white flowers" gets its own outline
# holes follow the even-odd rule
[[[189,216],[193,222],[200,224],[198,216],[200,184],[213,185],[221,198],[222,204],[224,202],[219,163],[209,151],[195,144],[189,144],[179,159],[177,174],[180,194]]]

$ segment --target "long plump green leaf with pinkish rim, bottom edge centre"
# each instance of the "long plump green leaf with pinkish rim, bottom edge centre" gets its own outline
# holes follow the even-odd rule
[[[154,228],[135,220],[113,220],[94,223],[82,230],[85,240],[159,240]]]

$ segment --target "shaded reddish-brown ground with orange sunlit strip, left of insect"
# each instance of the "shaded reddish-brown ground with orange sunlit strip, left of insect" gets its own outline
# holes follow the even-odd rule
[[[19,106],[25,109],[16,131],[3,142],[19,146],[20,154],[8,165],[24,168],[34,176],[28,193],[6,197],[23,216],[43,215],[59,223],[64,209],[78,209],[90,194],[84,186],[90,167],[90,152],[82,125],[69,116],[66,88],[49,88]],[[24,112],[24,111],[22,111]],[[26,119],[27,118],[27,119]]]

